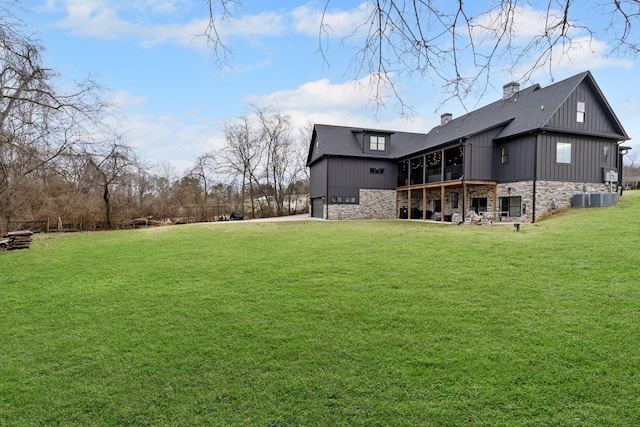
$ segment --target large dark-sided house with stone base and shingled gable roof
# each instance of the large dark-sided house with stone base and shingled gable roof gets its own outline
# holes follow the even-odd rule
[[[535,222],[577,195],[617,189],[629,136],[589,71],[503,89],[426,134],[316,124],[311,215],[459,222],[474,211]]]

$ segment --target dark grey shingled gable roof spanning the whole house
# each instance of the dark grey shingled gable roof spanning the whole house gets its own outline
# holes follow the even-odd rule
[[[538,84],[529,86],[507,99],[500,99],[453,119],[445,125],[436,126],[427,134],[315,125],[307,165],[324,155],[374,157],[371,153],[365,153],[357,140],[356,135],[362,132],[391,135],[390,151],[384,156],[377,155],[390,159],[407,157],[419,151],[458,142],[495,128],[501,128],[495,137],[498,140],[537,130],[585,134],[588,132],[560,129],[550,123],[562,105],[583,82],[589,87],[613,129],[613,133],[597,133],[597,135],[620,141],[630,139],[593,75],[590,71],[585,71],[544,88]],[[314,150],[316,143],[318,149]]]

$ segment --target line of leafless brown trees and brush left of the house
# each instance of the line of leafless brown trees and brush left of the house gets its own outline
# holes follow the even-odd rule
[[[308,130],[272,108],[223,125],[225,145],[177,175],[113,125],[105,88],[61,88],[44,47],[0,7],[0,227],[96,230],[305,209]]]

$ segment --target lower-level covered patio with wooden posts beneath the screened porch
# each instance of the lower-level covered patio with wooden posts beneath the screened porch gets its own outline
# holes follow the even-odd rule
[[[396,218],[461,222],[473,210],[497,211],[497,182],[457,179],[396,188]]]

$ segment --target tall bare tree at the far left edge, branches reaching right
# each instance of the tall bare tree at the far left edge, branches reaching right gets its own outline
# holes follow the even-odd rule
[[[43,65],[42,46],[19,33],[20,22],[12,18],[0,18],[0,212],[5,216],[11,214],[6,201],[22,183],[90,139],[108,107],[91,79],[74,92],[60,92],[56,73]]]

